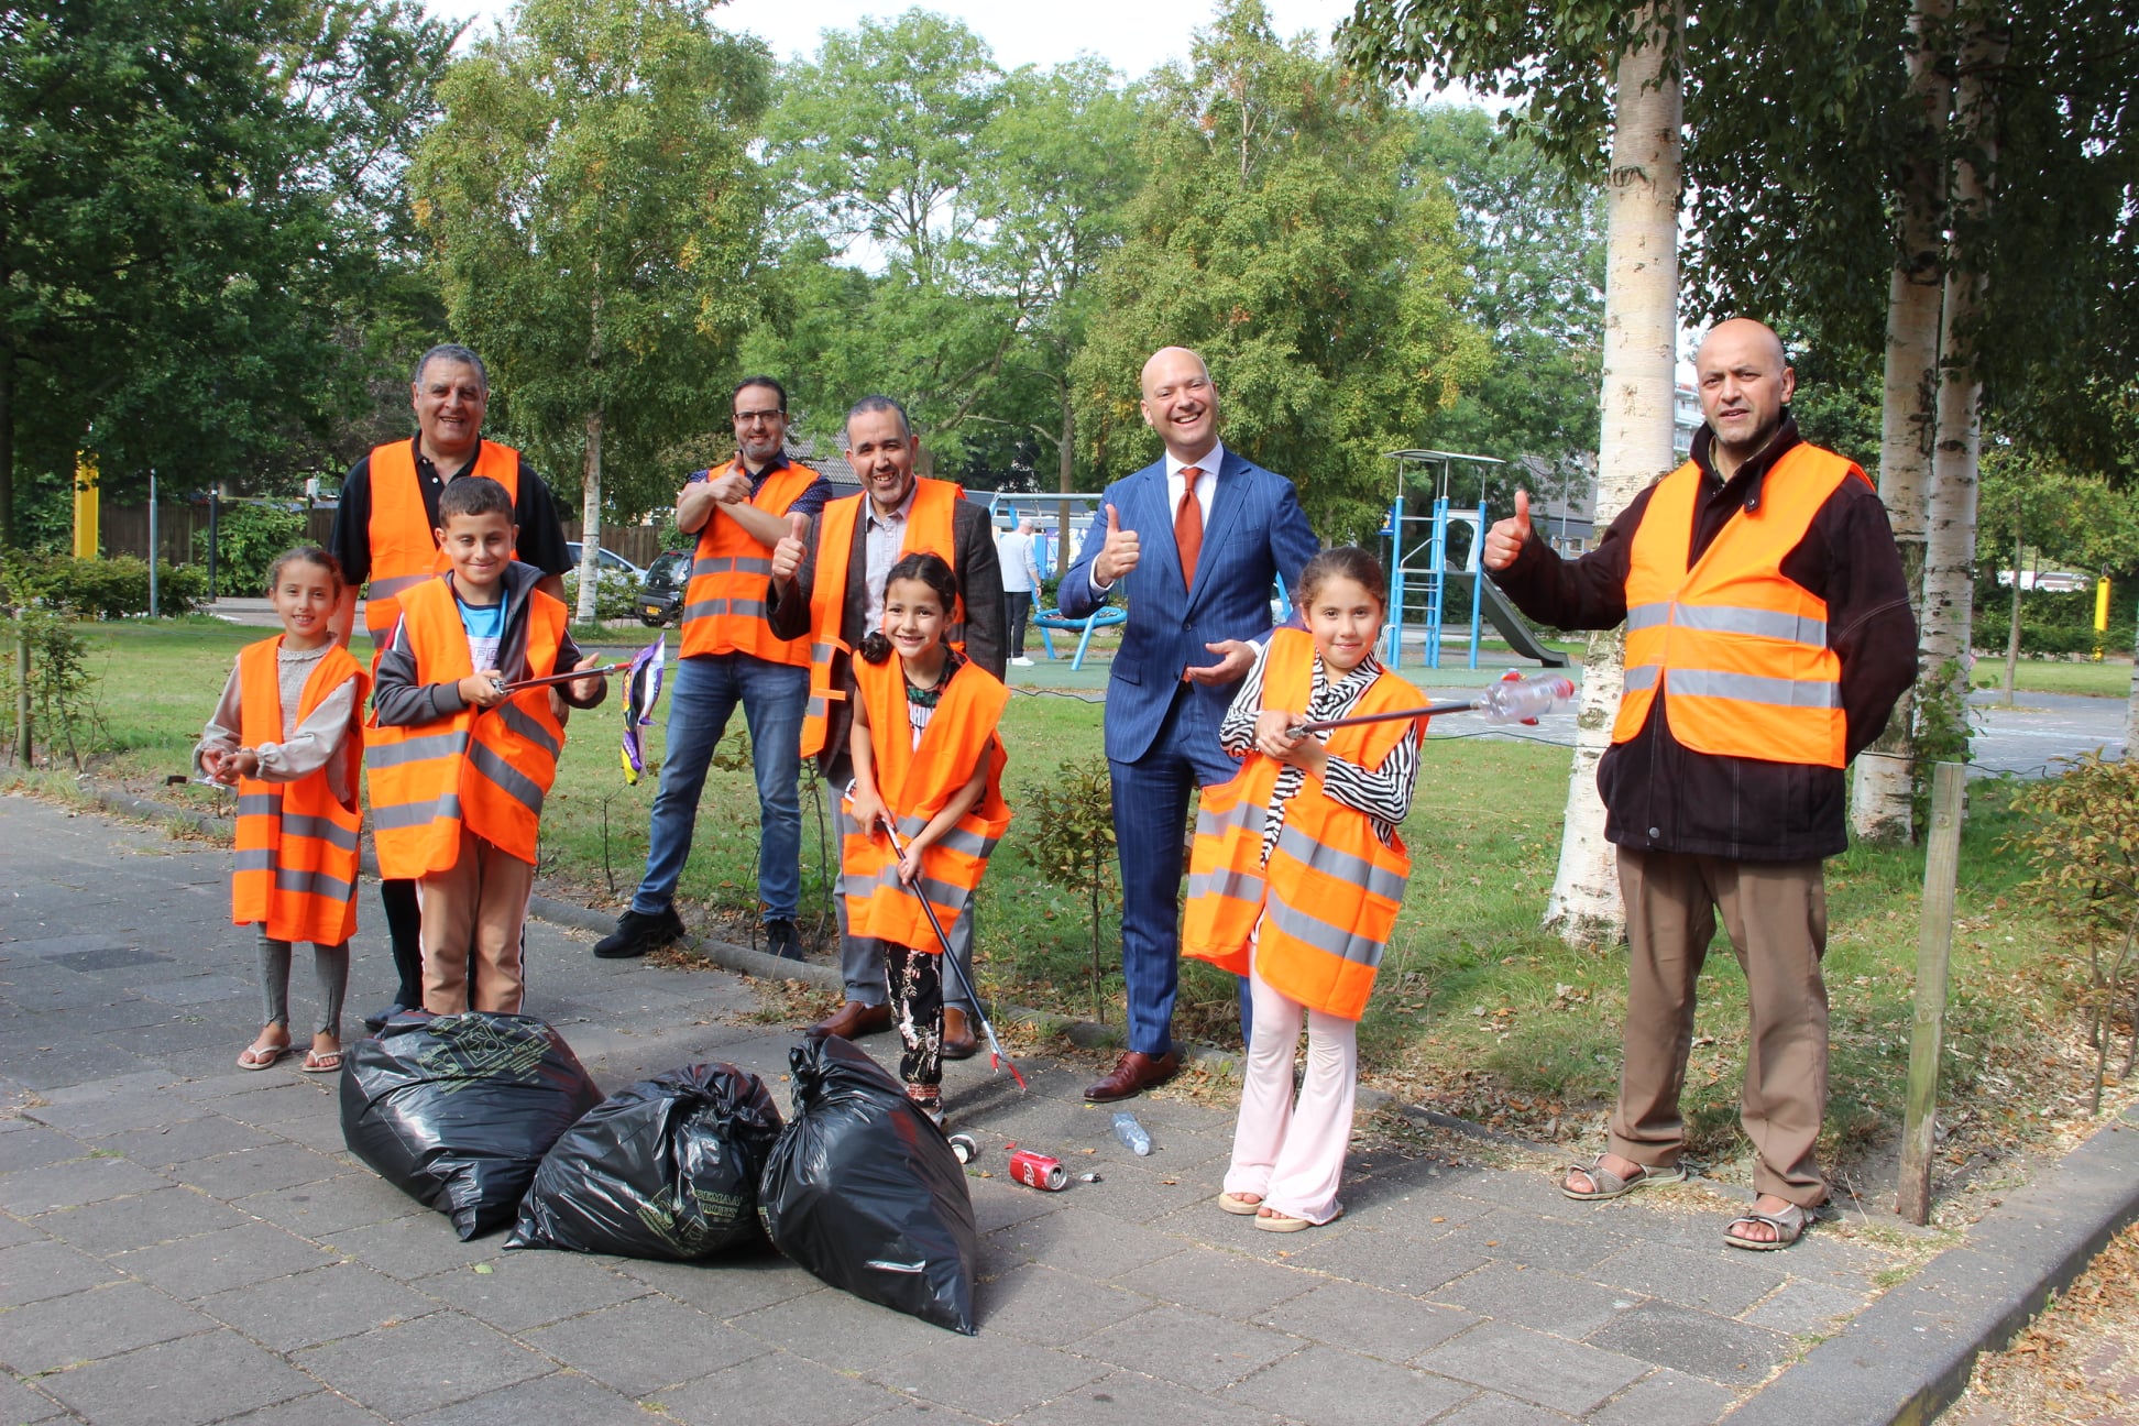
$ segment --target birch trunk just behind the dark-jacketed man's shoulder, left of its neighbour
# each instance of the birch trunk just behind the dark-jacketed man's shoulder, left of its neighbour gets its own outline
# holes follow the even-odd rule
[[[1880,406],[1878,494],[1887,502],[1902,577],[1923,626],[1923,534],[1932,487],[1938,408],[1938,319],[1944,284],[1946,113],[1953,83],[1938,64],[1938,32],[1951,0],[1917,0],[1908,17],[1908,109],[1914,158],[1895,188],[1899,207],[1893,274],[1887,282],[1887,391]],[[1850,823],[1859,838],[1906,842],[1910,770],[1917,755],[1914,691],[1902,695],[1887,731],[1857,755]]]

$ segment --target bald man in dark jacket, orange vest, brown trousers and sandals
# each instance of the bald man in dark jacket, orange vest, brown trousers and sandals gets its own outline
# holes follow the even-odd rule
[[[1844,768],[1917,678],[1917,620],[1872,481],[1790,419],[1782,340],[1720,323],[1694,357],[1692,458],[1561,560],[1529,500],[1487,532],[1484,567],[1529,618],[1626,624],[1626,693],[1598,763],[1619,849],[1628,1001],[1611,1140],[1559,1191],[1606,1199],[1683,1182],[1679,1090],[1715,917],[1745,971],[1739,1122],[1754,1146],[1735,1249],[1797,1242],[1827,1202],[1827,883],[1848,847]]]

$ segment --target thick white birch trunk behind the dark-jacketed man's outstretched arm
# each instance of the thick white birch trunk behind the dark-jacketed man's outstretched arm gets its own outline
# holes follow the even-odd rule
[[[1671,406],[1679,329],[1681,98],[1675,4],[1645,11],[1638,49],[1619,56],[1611,175],[1606,182],[1604,383],[1598,440],[1596,524],[1602,528],[1656,477],[1671,470]],[[1559,840],[1559,872],[1544,924],[1572,945],[1617,941],[1626,926],[1617,855],[1604,840],[1598,759],[1619,708],[1624,635],[1589,635],[1574,763]]]

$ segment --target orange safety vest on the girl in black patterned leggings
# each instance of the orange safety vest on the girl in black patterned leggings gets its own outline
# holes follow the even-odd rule
[[[988,868],[997,838],[1010,825],[1003,804],[1003,740],[995,725],[1010,703],[1010,688],[980,665],[965,663],[937,699],[922,746],[913,746],[907,720],[907,676],[892,654],[883,663],[856,663],[856,688],[868,710],[868,748],[875,753],[877,791],[898,821],[898,840],[922,832],[973,776],[988,765],[988,791],[960,817],[943,840],[922,849],[922,874],[913,889],[935,906],[943,932],[973,900],[973,887]],[[841,870],[847,894],[847,930],[896,945],[941,951],[920,896],[898,881],[892,838],[853,823],[853,806],[841,800]]]

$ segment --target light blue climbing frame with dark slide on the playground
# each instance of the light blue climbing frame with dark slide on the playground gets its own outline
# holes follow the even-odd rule
[[[1418,624],[1425,635],[1427,667],[1442,667],[1450,596],[1469,592],[1469,667],[1478,667],[1484,620],[1491,620],[1508,648],[1523,658],[1551,669],[1566,667],[1568,656],[1538,641],[1508,596],[1478,569],[1487,530],[1484,479],[1504,462],[1459,451],[1388,451],[1388,460],[1397,462],[1397,494],[1382,526],[1382,539],[1388,541],[1384,663],[1392,669],[1401,665],[1405,629]],[[1469,475],[1469,468],[1476,468],[1478,477],[1478,505],[1457,509],[1450,492],[1457,475]],[[1461,532],[1459,543],[1450,543],[1450,532]]]

